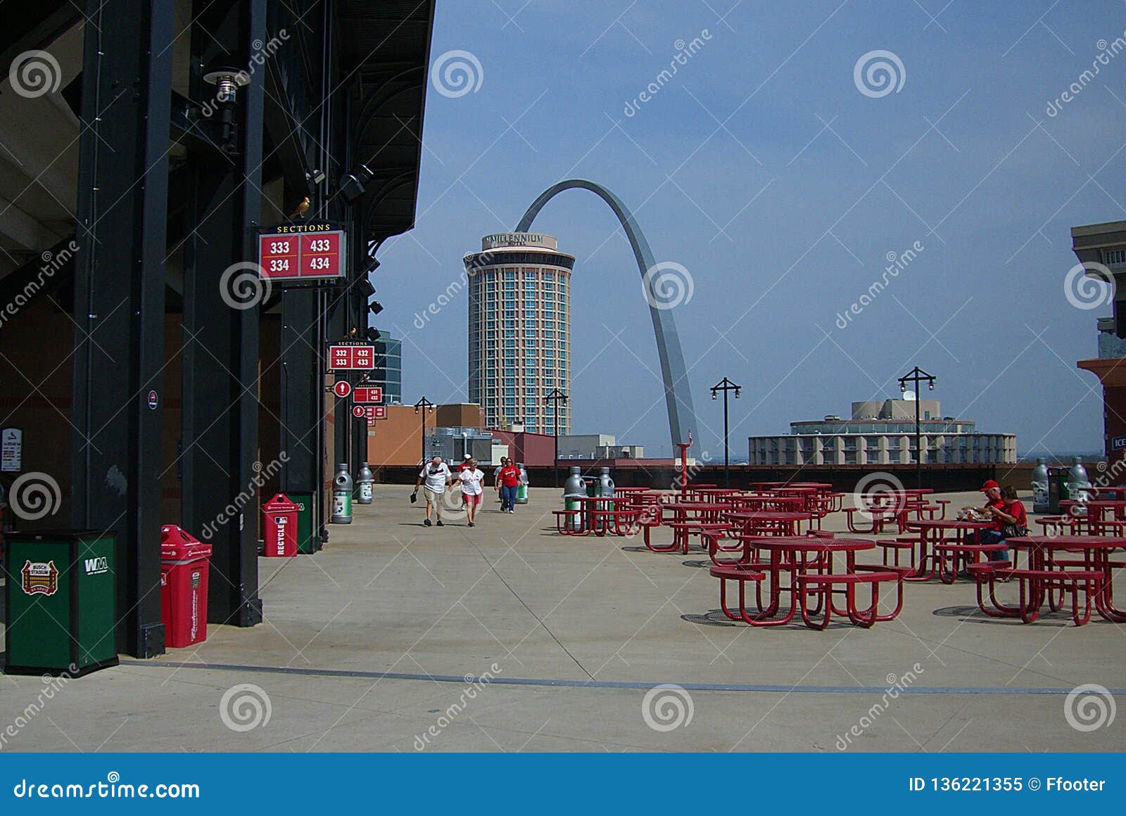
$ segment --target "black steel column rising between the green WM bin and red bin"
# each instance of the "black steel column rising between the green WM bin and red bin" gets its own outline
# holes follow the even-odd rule
[[[73,521],[117,531],[117,648],[137,657],[164,652],[161,370],[172,10],[172,0],[90,0],[84,12]]]

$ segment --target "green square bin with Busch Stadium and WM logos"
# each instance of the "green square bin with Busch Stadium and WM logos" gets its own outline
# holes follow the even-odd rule
[[[5,554],[8,674],[117,665],[115,532],[12,532]]]

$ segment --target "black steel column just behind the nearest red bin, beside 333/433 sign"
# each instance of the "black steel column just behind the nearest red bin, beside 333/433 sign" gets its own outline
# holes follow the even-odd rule
[[[217,61],[248,64],[266,42],[266,0],[222,8],[196,0],[193,95]],[[195,158],[193,232],[185,246],[184,521],[213,545],[207,618],[253,626],[258,598],[258,307],[232,306],[234,263],[257,257],[261,212],[262,82],[240,88],[236,152]],[[244,304],[239,304],[244,305]],[[233,513],[232,513],[233,509]],[[209,535],[208,535],[209,533]]]

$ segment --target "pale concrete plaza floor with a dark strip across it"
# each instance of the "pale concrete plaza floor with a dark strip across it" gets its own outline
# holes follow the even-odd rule
[[[717,611],[718,582],[701,554],[555,535],[557,491],[533,490],[512,515],[488,501],[472,529],[461,518],[423,527],[409,492],[378,486],[375,503],[333,526],[315,556],[261,559],[262,626],[212,627],[199,647],[72,681],[30,716],[43,681],[0,678],[0,748],[1126,744],[1126,714],[1085,732],[1069,721],[1082,726],[1084,712],[1126,697],[1126,631],[1099,618],[1082,628],[1063,616],[989,619],[973,584],[958,582],[908,585],[900,618],[867,630],[752,629]],[[843,528],[842,515],[829,521]],[[652,691],[663,683],[683,690]],[[1112,693],[1069,718],[1067,692],[1085,683]]]

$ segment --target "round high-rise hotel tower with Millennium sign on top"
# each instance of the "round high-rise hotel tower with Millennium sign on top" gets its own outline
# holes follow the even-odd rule
[[[470,287],[470,402],[485,427],[524,424],[566,434],[566,404],[548,402],[571,386],[571,270],[574,257],[542,233],[501,233],[465,255]],[[555,407],[558,407],[556,429]]]

